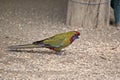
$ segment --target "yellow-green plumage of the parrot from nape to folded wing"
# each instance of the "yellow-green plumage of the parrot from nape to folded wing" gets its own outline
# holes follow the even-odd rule
[[[43,41],[44,44],[49,44],[53,47],[64,48],[70,44],[71,37],[75,34],[75,32],[67,32],[62,34],[57,34],[51,38],[48,38]]]

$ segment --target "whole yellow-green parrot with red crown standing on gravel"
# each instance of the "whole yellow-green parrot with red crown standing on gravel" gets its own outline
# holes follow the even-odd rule
[[[57,54],[59,54],[63,48],[69,46],[75,39],[78,39],[79,35],[80,32],[78,31],[69,31],[65,33],[56,34],[44,40],[35,41],[32,44],[9,46],[9,49],[17,50],[25,48],[48,48],[53,51],[56,51]]]

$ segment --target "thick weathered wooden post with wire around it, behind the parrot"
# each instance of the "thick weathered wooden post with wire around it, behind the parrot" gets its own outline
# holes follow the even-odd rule
[[[109,25],[110,0],[69,0],[67,21],[70,26],[104,27]]]

